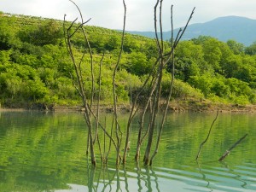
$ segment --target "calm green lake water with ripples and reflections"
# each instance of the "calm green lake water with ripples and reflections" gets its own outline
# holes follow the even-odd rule
[[[0,112],[0,192],[256,191],[253,113],[219,113],[195,161],[215,115],[168,114],[152,167],[134,163],[131,143],[125,167],[116,169],[113,156],[108,166],[98,160],[93,169],[85,155],[87,133],[80,113]],[[122,121],[127,115],[121,117]],[[131,137],[137,137],[137,125]]]

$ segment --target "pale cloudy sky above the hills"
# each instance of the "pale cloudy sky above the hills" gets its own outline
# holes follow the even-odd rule
[[[122,29],[124,7],[122,0],[73,0],[81,10],[88,25]],[[154,31],[154,4],[156,0],[125,0],[126,30]],[[186,24],[195,7],[190,24],[203,23],[218,17],[236,15],[256,20],[255,0],[163,0],[162,24],[164,31],[171,30],[171,6],[174,28]],[[74,20],[79,12],[69,0],[0,0],[4,13],[33,15],[45,18]]]

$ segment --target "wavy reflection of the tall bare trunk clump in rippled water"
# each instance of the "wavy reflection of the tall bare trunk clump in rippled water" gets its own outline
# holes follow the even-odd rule
[[[148,167],[127,172],[125,168],[88,167],[87,191],[160,191],[158,176]],[[59,190],[57,190],[59,191]],[[73,189],[72,189],[73,191]]]

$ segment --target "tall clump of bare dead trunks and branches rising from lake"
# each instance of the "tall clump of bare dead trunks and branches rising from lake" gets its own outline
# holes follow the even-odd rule
[[[121,35],[121,45],[119,48],[119,55],[117,58],[116,63],[113,67],[113,74],[112,74],[112,85],[113,85],[113,116],[112,116],[112,125],[109,129],[105,126],[103,126],[100,123],[100,101],[101,101],[101,93],[102,93],[102,61],[104,59],[104,54],[102,55],[102,59],[99,65],[99,75],[97,79],[99,81],[96,81],[95,77],[95,59],[92,52],[92,49],[90,48],[90,42],[87,37],[87,31],[84,24],[86,24],[89,20],[85,21],[83,20],[83,16],[81,14],[81,11],[79,7],[76,5],[76,3],[73,2],[73,0],[69,0],[71,3],[73,3],[76,8],[79,10],[80,19],[82,20],[82,24],[75,24],[76,20],[73,20],[73,22],[70,24],[66,21],[64,17],[63,22],[63,32],[65,36],[65,43],[67,47],[67,52],[71,57],[71,61],[73,63],[73,69],[74,69],[74,78],[73,78],[73,84],[76,90],[79,93],[79,96],[82,99],[83,107],[84,107],[84,119],[88,128],[88,141],[87,141],[87,151],[88,154],[90,153],[90,160],[91,164],[93,166],[96,166],[96,154],[95,154],[95,146],[98,145],[99,152],[101,154],[102,163],[107,164],[108,161],[108,154],[110,153],[111,146],[115,148],[116,152],[116,165],[119,166],[119,162],[123,161],[125,164],[126,162],[126,156],[128,153],[128,150],[130,148],[130,142],[131,142],[131,124],[134,120],[134,117],[139,112],[139,108],[142,108],[142,112],[139,115],[139,134],[137,138],[137,152],[136,152],[136,160],[138,162],[139,156],[140,156],[140,148],[142,146],[142,143],[144,139],[148,136],[148,140],[146,143],[146,149],[144,153],[144,159],[143,163],[145,166],[151,166],[152,161],[154,160],[155,155],[158,153],[159,146],[160,146],[160,137],[161,133],[163,131],[165,119],[166,119],[166,113],[169,106],[169,102],[172,96],[172,87],[173,87],[173,79],[174,79],[174,49],[177,47],[177,44],[179,40],[182,38],[183,33],[185,32],[189,20],[191,20],[192,15],[194,14],[195,8],[192,10],[189,20],[187,21],[186,26],[184,29],[180,29],[179,32],[177,32],[177,37],[173,38],[173,24],[172,24],[172,42],[171,47],[166,46],[166,42],[163,38],[163,28],[162,28],[162,3],[163,0],[156,0],[156,4],[154,6],[154,31],[155,31],[155,42],[156,47],[158,49],[158,54],[155,55],[155,62],[151,69],[151,72],[148,73],[148,77],[143,82],[143,85],[140,87],[139,91],[137,92],[134,100],[132,101],[131,106],[131,113],[130,117],[128,119],[128,123],[126,125],[126,131],[123,133],[123,129],[121,125],[119,125],[119,114],[117,110],[117,106],[119,104],[118,102],[118,81],[117,81],[117,73],[119,72],[120,67],[120,61],[123,54],[124,49],[124,42],[125,42],[125,20],[126,20],[126,5],[125,0],[123,0],[124,5],[124,23],[123,23],[123,31]],[[159,12],[159,16],[157,16],[157,13]],[[171,9],[172,12],[172,9]],[[172,13],[171,13],[172,15]],[[157,21],[159,20],[159,22]],[[171,18],[172,20],[172,18]],[[68,26],[66,26],[68,24]],[[158,32],[157,26],[160,26],[160,32]],[[76,36],[77,33],[82,32],[83,38],[84,38],[84,50],[82,51],[82,55],[76,55],[75,51],[77,50],[74,46],[73,38]],[[160,34],[160,36],[158,35]],[[90,63],[85,59],[85,57],[90,57]],[[160,99],[162,96],[162,82],[163,77],[166,73],[166,67],[167,64],[172,62],[172,77],[171,81],[169,82],[169,94],[166,97],[166,108],[164,110],[164,113],[160,113]],[[90,64],[90,65],[89,65]],[[90,75],[87,75],[86,77],[85,72],[90,73]],[[91,87],[86,87],[85,84],[85,78],[86,82],[87,79],[90,81]],[[144,92],[147,92],[146,96],[144,96]],[[144,97],[144,102],[140,103],[140,98]],[[132,96],[131,96],[132,97]],[[92,108],[96,104],[96,111]],[[148,125],[145,125],[144,121],[146,118],[146,113],[149,113],[149,122]],[[158,118],[161,115],[161,124],[160,127],[156,127],[156,122]],[[105,120],[106,122],[106,120]],[[158,129],[158,132],[155,134],[156,128]],[[100,138],[98,134],[100,134],[100,131],[103,131],[103,143],[100,141]],[[101,135],[100,135],[101,136]],[[106,144],[106,137],[109,138],[109,142]],[[123,138],[125,137],[125,148],[123,150],[123,155],[121,156],[121,146],[124,143]],[[156,141],[155,141],[156,140]],[[154,146],[154,142],[155,146]],[[107,148],[108,145],[108,148]],[[154,151],[153,151],[153,146]],[[153,154],[151,155],[151,153]]]

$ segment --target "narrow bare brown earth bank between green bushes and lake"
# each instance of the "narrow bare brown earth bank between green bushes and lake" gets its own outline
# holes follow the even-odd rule
[[[3,106],[2,106],[3,107]],[[93,107],[93,109],[95,109]],[[165,108],[165,105],[160,105],[160,111]],[[0,112],[23,112],[23,111],[45,111],[45,112],[83,112],[82,106],[63,106],[63,105],[50,105],[44,106],[44,108],[0,108]],[[256,105],[240,105],[240,104],[226,104],[215,103],[209,101],[172,101],[169,104],[168,111],[175,113],[178,112],[216,112],[219,110],[221,113],[255,113]],[[100,111],[102,113],[112,113],[113,106],[111,104],[100,105]],[[130,104],[119,104],[118,111],[128,113],[131,111]]]

